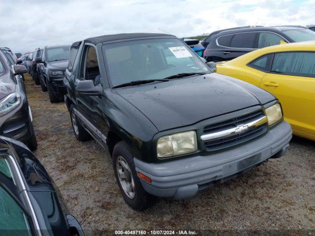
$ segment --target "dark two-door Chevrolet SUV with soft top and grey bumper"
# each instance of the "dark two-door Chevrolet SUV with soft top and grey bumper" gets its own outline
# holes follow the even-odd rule
[[[63,83],[75,137],[108,147],[121,193],[137,210],[281,157],[292,137],[274,95],[212,72],[172,35],[76,42]]]

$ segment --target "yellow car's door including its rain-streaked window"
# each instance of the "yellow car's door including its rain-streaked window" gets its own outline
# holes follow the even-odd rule
[[[315,52],[276,53],[260,88],[280,100],[296,135],[315,140]]]

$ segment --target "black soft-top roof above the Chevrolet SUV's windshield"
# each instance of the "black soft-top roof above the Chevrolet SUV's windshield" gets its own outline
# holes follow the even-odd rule
[[[113,40],[121,39],[131,39],[131,38],[145,38],[145,37],[175,37],[174,35],[164,34],[164,33],[119,33],[119,34],[109,34],[102,35],[93,38],[87,38],[86,42],[97,44],[102,42],[108,42]]]

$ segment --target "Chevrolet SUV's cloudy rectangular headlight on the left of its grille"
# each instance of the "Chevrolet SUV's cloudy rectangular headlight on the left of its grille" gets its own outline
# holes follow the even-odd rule
[[[166,135],[158,139],[157,153],[159,158],[178,156],[197,150],[195,131]]]

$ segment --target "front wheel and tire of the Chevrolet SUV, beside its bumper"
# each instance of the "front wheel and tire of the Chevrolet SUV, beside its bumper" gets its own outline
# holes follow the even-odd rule
[[[116,180],[126,204],[139,211],[153,206],[157,198],[144,190],[135,170],[133,155],[124,141],[115,145],[112,157]]]

